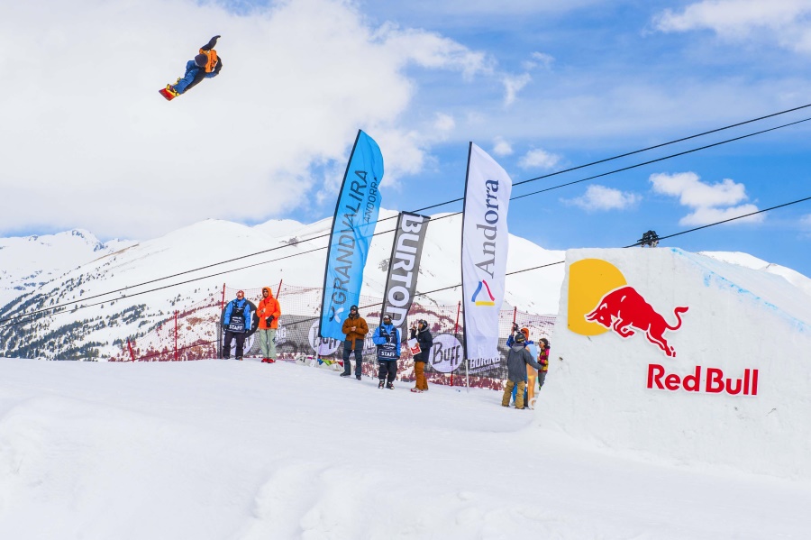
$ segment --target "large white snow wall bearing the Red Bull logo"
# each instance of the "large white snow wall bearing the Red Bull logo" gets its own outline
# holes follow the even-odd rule
[[[570,250],[536,408],[615,449],[811,478],[811,297],[679,249]]]

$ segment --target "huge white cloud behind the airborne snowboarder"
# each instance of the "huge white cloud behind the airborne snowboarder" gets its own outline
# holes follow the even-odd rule
[[[164,101],[158,89],[216,33],[222,74]],[[417,90],[406,69],[493,74],[480,52],[372,28],[342,0],[244,16],[191,0],[18,2],[4,5],[0,47],[0,233],[144,238],[282,215],[334,194],[359,127],[396,185],[453,128],[447,115],[404,121]]]

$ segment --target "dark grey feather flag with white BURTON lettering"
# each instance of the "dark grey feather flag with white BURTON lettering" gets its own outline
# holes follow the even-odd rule
[[[383,313],[391,316],[391,324],[400,329],[400,335],[405,335],[405,316],[414,302],[425,231],[430,219],[427,215],[409,212],[400,212],[397,218],[383,293]]]

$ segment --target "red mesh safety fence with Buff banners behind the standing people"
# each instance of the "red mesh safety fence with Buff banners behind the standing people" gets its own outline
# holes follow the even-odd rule
[[[266,285],[273,289],[281,306],[276,334],[278,360],[298,361],[313,365],[342,365],[343,342],[317,337],[321,310],[322,288],[298,287],[286,283]],[[243,290],[245,298],[254,305],[261,299],[260,288],[232,288],[223,285],[219,297],[211,296],[192,307],[178,310],[150,333],[123,345],[114,362],[189,361],[221,356],[223,347],[223,307]],[[361,295],[360,316],[369,325],[369,335],[363,348],[363,373],[377,375],[375,346],[371,334],[378,326],[382,298]],[[433,334],[434,346],[425,365],[425,376],[434,384],[503,389],[506,380],[506,337],[513,322],[530,331],[529,339],[547,339],[555,325],[555,316],[534,315],[517,309],[505,309],[499,315],[499,350],[501,362],[487,366],[469,366],[462,358],[462,322],[460,303],[437,306],[415,303],[408,312],[409,325],[415,319],[425,319]],[[405,334],[405,333],[404,333]],[[244,357],[260,357],[259,340],[250,334],[244,345]],[[415,380],[414,359],[403,336],[401,357],[397,365],[398,380]],[[354,362],[354,355],[351,355]]]

